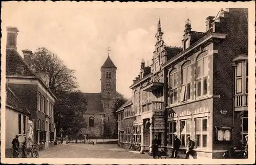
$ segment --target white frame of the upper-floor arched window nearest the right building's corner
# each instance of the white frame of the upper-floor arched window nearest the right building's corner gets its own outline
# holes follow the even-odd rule
[[[206,60],[207,59],[207,60]],[[198,63],[202,61],[201,68],[198,69]],[[204,55],[197,59],[196,61],[196,98],[201,98],[209,94],[208,92],[208,73],[205,70],[205,66],[209,64],[209,55]],[[200,75],[198,75],[198,71]],[[206,79],[206,84],[204,80]],[[199,83],[201,84],[199,87]],[[206,85],[206,86],[205,86]],[[199,91],[200,90],[200,91]]]

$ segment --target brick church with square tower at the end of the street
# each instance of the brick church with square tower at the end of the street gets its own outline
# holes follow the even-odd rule
[[[114,136],[116,119],[111,112],[111,100],[116,95],[116,70],[110,56],[101,66],[101,93],[84,93],[88,109],[84,116],[88,127],[82,134],[90,137]]]

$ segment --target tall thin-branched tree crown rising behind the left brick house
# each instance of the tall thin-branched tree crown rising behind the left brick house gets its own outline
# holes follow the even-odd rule
[[[69,69],[63,61],[46,48],[38,48],[32,58],[33,69],[48,73],[50,89],[58,94],[71,92],[78,87],[75,71]]]

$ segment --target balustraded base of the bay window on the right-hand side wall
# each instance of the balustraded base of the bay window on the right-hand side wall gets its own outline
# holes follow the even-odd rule
[[[248,111],[248,95],[234,96],[234,111]]]

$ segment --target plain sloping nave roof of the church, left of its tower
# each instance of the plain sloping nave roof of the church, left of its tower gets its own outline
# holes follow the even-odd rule
[[[87,100],[86,112],[104,112],[101,93],[83,93]]]

